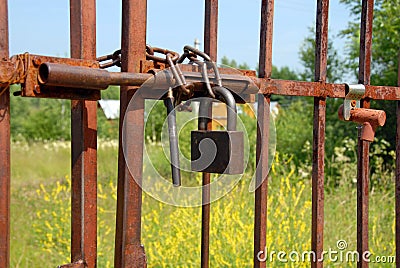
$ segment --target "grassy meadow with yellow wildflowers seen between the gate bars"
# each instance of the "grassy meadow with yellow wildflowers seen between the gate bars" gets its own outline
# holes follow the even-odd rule
[[[69,260],[70,149],[68,143],[24,143],[12,146],[11,264],[12,267],[56,267]],[[117,143],[99,143],[98,267],[112,267]],[[154,155],[161,155],[152,146]],[[157,157],[156,157],[157,158]],[[157,165],[162,165],[162,160]],[[309,250],[311,186],[296,175],[293,162],[276,158],[268,199],[268,249]],[[163,167],[163,172],[168,168]],[[146,174],[144,176],[146,179]],[[186,177],[184,179],[187,179]],[[254,195],[250,178],[212,203],[211,267],[251,267]],[[57,183],[58,182],[58,183]],[[394,188],[394,187],[393,187]],[[143,197],[143,244],[149,267],[200,266],[200,208],[177,208]],[[47,223],[46,223],[47,222]],[[394,254],[394,193],[370,194],[370,247],[376,255]],[[356,249],[356,192],[340,186],[326,192],[324,246],[337,250],[346,240]],[[279,263],[272,267],[308,267],[308,263]],[[356,267],[355,263],[326,263],[325,267]],[[371,267],[393,264],[371,264]]]

